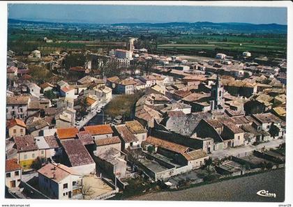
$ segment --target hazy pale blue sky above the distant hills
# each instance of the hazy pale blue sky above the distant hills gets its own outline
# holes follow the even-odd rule
[[[287,24],[287,8],[9,4],[8,17],[18,20],[102,24],[126,22]]]

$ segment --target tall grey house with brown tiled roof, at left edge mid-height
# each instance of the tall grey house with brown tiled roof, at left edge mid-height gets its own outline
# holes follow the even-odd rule
[[[15,95],[6,97],[6,119],[26,119],[28,117],[27,109],[30,101],[30,95]]]

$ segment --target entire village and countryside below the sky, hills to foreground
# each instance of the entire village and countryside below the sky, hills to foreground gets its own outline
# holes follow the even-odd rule
[[[287,25],[192,22],[8,18],[6,198],[282,201]]]

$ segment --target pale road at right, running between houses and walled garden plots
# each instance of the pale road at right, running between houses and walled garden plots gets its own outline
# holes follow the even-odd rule
[[[227,148],[223,151],[213,151],[211,153],[211,158],[213,159],[222,159],[222,158],[227,158],[230,157],[231,155],[237,156],[238,154],[245,154],[246,152],[252,152],[255,150],[259,150],[260,148],[275,148],[277,146],[280,146],[280,144],[283,144],[285,142],[285,139],[276,139],[276,140],[271,140],[266,143],[258,144],[257,146],[253,145],[248,145],[248,146],[241,146],[241,147],[236,147],[236,148]]]

